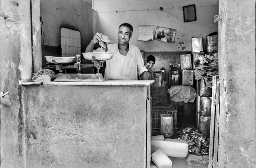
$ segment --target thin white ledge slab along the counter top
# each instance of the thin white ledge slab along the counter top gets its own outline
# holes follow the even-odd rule
[[[107,80],[104,82],[44,82],[43,85],[91,85],[91,86],[149,86],[154,80]],[[22,83],[22,85],[40,84],[34,82]]]

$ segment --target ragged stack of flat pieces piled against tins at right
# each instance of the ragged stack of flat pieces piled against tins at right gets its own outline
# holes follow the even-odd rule
[[[204,79],[206,87],[212,87],[212,76],[219,75],[218,53],[205,54],[203,64],[194,71],[195,79]]]

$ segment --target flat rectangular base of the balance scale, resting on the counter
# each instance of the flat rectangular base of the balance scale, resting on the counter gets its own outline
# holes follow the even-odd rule
[[[102,74],[57,74],[55,82],[104,82]]]

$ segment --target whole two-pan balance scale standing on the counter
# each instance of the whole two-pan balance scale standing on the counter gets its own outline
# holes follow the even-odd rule
[[[100,67],[103,66],[103,63],[106,60],[109,60],[113,57],[114,53],[110,52],[84,52],[82,53],[84,59],[91,60],[93,64],[81,64],[80,54],[77,54],[74,57],[53,57],[45,56],[46,60],[50,63],[53,63],[56,70],[59,70],[57,74],[56,82],[103,82],[102,74],[100,73]],[[73,65],[69,65],[74,62]],[[81,68],[96,67],[96,74],[81,74]],[[63,74],[63,69],[76,68],[77,74]]]

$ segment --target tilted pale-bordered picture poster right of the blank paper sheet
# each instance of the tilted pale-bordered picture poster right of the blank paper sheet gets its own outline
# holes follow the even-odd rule
[[[154,39],[168,43],[175,43],[175,35],[176,29],[156,26],[156,33]]]

